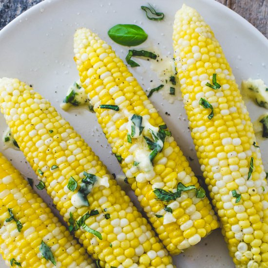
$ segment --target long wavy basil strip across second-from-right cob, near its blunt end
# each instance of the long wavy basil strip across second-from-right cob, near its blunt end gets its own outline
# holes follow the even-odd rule
[[[175,192],[166,191],[159,188],[155,188],[153,192],[159,200],[169,202],[171,200],[176,200],[178,197],[181,197],[182,191],[189,191],[193,189],[196,191],[195,196],[197,198],[204,198],[206,196],[204,188],[200,187],[199,189],[196,189],[194,185],[185,186],[181,182],[178,183],[177,191]]]

